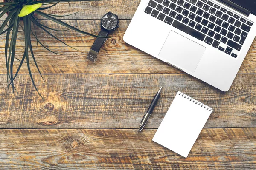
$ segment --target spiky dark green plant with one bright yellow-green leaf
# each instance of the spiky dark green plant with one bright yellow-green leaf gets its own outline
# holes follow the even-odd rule
[[[33,83],[36,91],[38,92],[38,89],[35,86],[35,82],[34,82],[34,79],[32,77],[32,73],[30,70],[29,57],[32,57],[32,59],[35,63],[35,66],[38,69],[38,72],[40,75],[41,75],[41,72],[40,72],[38,65],[36,63],[36,60],[35,60],[35,55],[33,52],[30,37],[34,36],[40,45],[42,45],[48,51],[51,51],[47,47],[45,47],[41,43],[40,40],[38,40],[38,37],[36,36],[36,32],[35,31],[33,32],[31,29],[32,25],[37,26],[37,28],[46,32],[52,38],[67,45],[65,42],[61,41],[60,39],[58,39],[57,37],[55,37],[53,34],[51,34],[48,31],[48,30],[60,31],[60,30],[56,30],[56,29],[53,29],[53,28],[50,28],[50,27],[44,25],[42,22],[40,22],[40,20],[38,20],[38,17],[47,18],[49,20],[52,20],[55,23],[58,23],[58,24],[61,24],[62,26],[67,27],[68,29],[78,31],[82,34],[87,34],[87,35],[90,35],[93,37],[98,37],[96,35],[81,31],[81,30],[75,28],[74,26],[70,26],[69,24],[64,23],[63,21],[56,18],[56,17],[64,17],[64,16],[58,16],[58,15],[44,13],[44,10],[52,8],[53,6],[57,5],[58,3],[74,2],[74,1],[88,1],[88,0],[2,0],[2,2],[0,2],[0,6],[1,6],[0,7],[0,18],[2,18],[4,16],[4,14],[7,14],[6,19],[3,21],[2,25],[0,26],[0,35],[6,34],[5,58],[6,58],[6,70],[7,70],[7,87],[9,88],[9,85],[12,85],[13,93],[14,93],[14,91],[17,92],[17,90],[15,89],[15,86],[14,86],[14,80],[15,80],[17,74],[19,73],[20,67],[25,62],[26,62],[32,83]],[[68,16],[68,15],[66,15],[66,16]],[[21,24],[21,21],[23,22],[23,24]],[[22,29],[24,31],[25,47],[24,47],[23,57],[21,60],[19,60],[20,65],[14,74],[13,63],[16,58],[15,57],[15,47],[16,47],[16,39],[17,39],[19,27],[22,27]],[[67,46],[69,46],[69,45],[67,45]],[[73,47],[71,47],[71,48],[73,48]],[[29,52],[30,52],[31,56],[29,55]],[[53,51],[51,51],[51,52],[53,52]],[[53,52],[53,53],[55,53],[55,52]],[[41,77],[42,77],[42,75],[41,75]],[[40,95],[39,92],[38,92],[38,94]]]

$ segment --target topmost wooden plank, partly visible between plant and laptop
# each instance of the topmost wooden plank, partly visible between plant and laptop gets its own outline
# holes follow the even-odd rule
[[[45,13],[54,15],[67,15],[79,12],[72,16],[58,17],[60,19],[78,19],[78,20],[100,20],[104,14],[111,11],[118,15],[119,19],[131,19],[139,6],[140,0],[99,0],[88,2],[70,2],[59,3],[56,6],[44,10]],[[38,16],[41,19],[43,17]],[[4,20],[6,16],[3,16],[1,20]]]

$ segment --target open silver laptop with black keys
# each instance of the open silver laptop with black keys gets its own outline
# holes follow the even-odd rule
[[[228,91],[256,36],[256,0],[141,0],[123,40]]]

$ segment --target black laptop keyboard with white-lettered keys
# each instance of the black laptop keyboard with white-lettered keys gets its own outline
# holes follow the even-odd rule
[[[145,13],[234,58],[253,25],[210,0],[150,0]]]

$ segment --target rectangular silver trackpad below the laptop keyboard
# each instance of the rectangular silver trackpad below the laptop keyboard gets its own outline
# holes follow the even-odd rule
[[[188,71],[195,72],[205,49],[204,46],[174,31],[170,31],[159,53],[159,57],[164,58],[165,61],[176,65],[180,69],[184,68]]]

